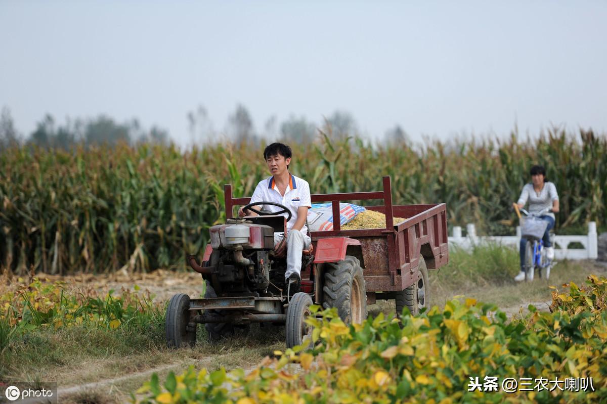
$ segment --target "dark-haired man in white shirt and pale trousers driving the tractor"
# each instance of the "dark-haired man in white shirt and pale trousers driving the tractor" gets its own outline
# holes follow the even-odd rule
[[[310,201],[310,185],[302,178],[295,177],[289,172],[291,163],[291,147],[283,143],[272,143],[263,150],[263,158],[268,164],[271,177],[259,181],[251,203],[260,201],[273,202],[288,207],[291,218],[287,222],[287,242],[283,232],[274,233],[274,252],[277,256],[285,254],[287,249],[287,272],[285,272],[285,284],[288,285],[290,295],[300,291],[302,251],[311,243],[308,237],[306,219],[308,209],[312,207]],[[279,212],[280,207],[274,205],[263,205],[263,209],[270,212]],[[238,211],[240,217],[257,216],[256,212],[241,207]],[[284,214],[287,215],[287,214]]]

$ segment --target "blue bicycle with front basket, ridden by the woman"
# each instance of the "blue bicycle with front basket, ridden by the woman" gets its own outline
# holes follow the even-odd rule
[[[540,216],[552,212],[552,209],[543,209],[538,214],[530,214],[525,209],[520,209],[520,211],[526,216],[521,224],[521,237],[527,239],[524,259],[525,280],[527,282],[534,280],[536,268],[540,278],[542,278],[542,270],[545,270],[544,277],[548,279],[554,260],[550,260],[546,257],[546,250],[543,248],[544,241],[542,238],[544,237],[544,232],[546,232],[548,223],[546,223],[545,220],[541,220]]]

